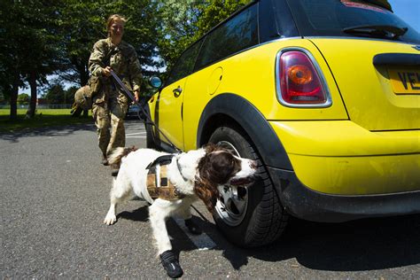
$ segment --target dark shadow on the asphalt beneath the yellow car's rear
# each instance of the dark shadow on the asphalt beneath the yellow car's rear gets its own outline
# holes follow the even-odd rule
[[[231,245],[214,224],[197,221],[232,267],[253,257],[261,261],[296,258],[298,266],[329,271],[398,268],[420,263],[420,215],[318,223],[292,219],[276,243],[253,249]],[[195,248],[178,247],[180,251]]]

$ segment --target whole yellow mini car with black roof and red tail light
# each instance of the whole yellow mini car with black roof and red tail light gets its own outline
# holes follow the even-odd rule
[[[183,52],[149,101],[147,145],[218,143],[260,179],[221,188],[237,245],[289,214],[345,222],[420,213],[420,35],[385,0],[261,0]],[[163,134],[163,135],[162,135]]]

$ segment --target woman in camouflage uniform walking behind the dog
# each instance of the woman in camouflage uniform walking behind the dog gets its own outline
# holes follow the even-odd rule
[[[101,84],[99,92],[92,97],[92,114],[104,165],[108,164],[109,152],[125,146],[124,117],[128,109],[128,97],[113,81],[110,70],[134,92],[137,101],[142,81],[135,49],[121,40],[125,22],[120,15],[110,16],[106,22],[108,37],[95,43],[89,58],[90,74],[99,77]],[[118,169],[119,166],[112,166],[112,174],[117,175]]]

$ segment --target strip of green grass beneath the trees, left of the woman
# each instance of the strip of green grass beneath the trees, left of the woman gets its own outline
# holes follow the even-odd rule
[[[74,118],[70,114],[70,109],[37,109],[35,118],[29,120],[25,120],[25,113],[27,113],[27,109],[18,109],[18,120],[11,121],[9,119],[10,109],[0,109],[0,132],[93,123],[90,112],[88,118]]]

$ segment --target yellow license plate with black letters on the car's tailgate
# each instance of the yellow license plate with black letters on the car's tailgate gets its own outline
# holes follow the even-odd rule
[[[388,69],[395,94],[420,94],[420,70]]]

